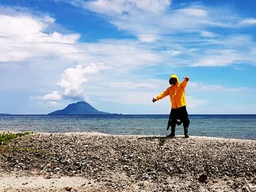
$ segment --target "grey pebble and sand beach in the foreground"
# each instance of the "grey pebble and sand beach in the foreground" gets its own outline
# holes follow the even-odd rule
[[[256,191],[255,140],[34,133],[0,150],[0,191]]]

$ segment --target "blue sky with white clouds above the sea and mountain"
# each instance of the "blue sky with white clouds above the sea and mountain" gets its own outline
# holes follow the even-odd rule
[[[189,76],[189,114],[256,114],[254,0],[0,0],[0,113],[77,101],[168,114],[152,98]]]

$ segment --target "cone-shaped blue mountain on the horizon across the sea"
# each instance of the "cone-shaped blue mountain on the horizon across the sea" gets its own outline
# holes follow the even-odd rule
[[[69,104],[63,110],[57,110],[50,112],[48,115],[113,115],[108,112],[101,112],[96,110],[90,104],[85,101],[80,101],[75,104]]]

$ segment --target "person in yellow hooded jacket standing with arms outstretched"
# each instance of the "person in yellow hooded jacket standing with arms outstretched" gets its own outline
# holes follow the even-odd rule
[[[173,74],[170,76],[170,80],[169,80],[170,87],[167,88],[161,94],[159,94],[159,96],[152,99],[154,103],[159,99],[163,99],[165,96],[168,96],[168,95],[170,96],[172,107],[170,110],[167,130],[170,128],[171,132],[169,135],[167,135],[167,137],[175,137],[176,123],[178,125],[183,123],[185,138],[189,137],[188,129],[189,129],[190,121],[189,121],[189,115],[186,109],[186,98],[185,98],[185,88],[187,86],[188,81],[189,81],[189,77],[184,77],[184,80],[182,82],[179,82],[177,75]]]

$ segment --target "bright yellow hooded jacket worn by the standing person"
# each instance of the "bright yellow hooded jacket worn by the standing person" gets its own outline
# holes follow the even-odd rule
[[[170,96],[170,102],[172,103],[172,109],[177,109],[179,107],[183,107],[186,105],[185,98],[185,88],[187,86],[187,80],[183,80],[182,82],[178,81],[178,77],[176,74],[170,76],[170,78],[176,78],[176,85],[170,85],[164,92],[157,96],[156,100],[163,99],[165,96]]]

